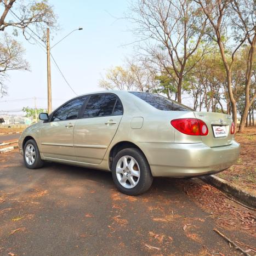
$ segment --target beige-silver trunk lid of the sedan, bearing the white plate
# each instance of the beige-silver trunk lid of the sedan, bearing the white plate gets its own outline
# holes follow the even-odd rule
[[[202,142],[209,147],[230,145],[233,135],[230,134],[232,117],[223,113],[194,112],[197,119],[206,123],[209,133],[201,136]],[[215,130],[215,135],[214,135]],[[225,136],[223,136],[225,133]]]

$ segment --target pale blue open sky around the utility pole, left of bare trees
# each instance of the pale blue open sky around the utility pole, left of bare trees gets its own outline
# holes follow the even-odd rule
[[[18,0],[19,1],[19,0]],[[133,53],[133,45],[123,46],[136,40],[129,32],[131,24],[122,18],[129,2],[122,0],[53,1],[60,30],[50,44],[58,42],[78,27],[52,49],[52,54],[62,73],[75,92],[80,95],[101,90],[99,79],[107,69],[122,65],[126,56]],[[72,4],[74,3],[75,4]],[[2,9],[1,9],[2,10]],[[12,33],[12,29],[7,30]],[[26,49],[25,58],[30,71],[10,71],[8,95],[0,98],[0,114],[3,111],[20,111],[22,107],[35,106],[47,109],[47,55],[37,44],[18,37]],[[61,77],[54,62],[52,67],[53,109],[76,96]]]

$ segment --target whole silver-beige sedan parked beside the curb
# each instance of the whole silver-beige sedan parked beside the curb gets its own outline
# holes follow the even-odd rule
[[[27,168],[52,161],[106,170],[127,195],[147,191],[153,177],[220,172],[240,152],[229,115],[197,112],[151,93],[90,93],[39,118],[19,139]]]

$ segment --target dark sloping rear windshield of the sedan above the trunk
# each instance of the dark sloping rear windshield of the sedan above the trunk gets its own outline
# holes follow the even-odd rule
[[[143,93],[143,92],[130,92],[133,95],[139,97],[141,100],[146,101],[151,106],[158,110],[166,111],[193,111],[189,107],[177,103],[174,100],[165,98],[164,96],[153,94],[153,93]]]

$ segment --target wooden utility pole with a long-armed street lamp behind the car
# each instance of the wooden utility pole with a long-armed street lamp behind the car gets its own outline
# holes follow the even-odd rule
[[[78,29],[75,29],[68,33],[65,37],[63,37],[60,41],[56,42],[53,47],[60,43],[62,40],[64,40],[66,37],[68,37],[71,33],[73,33],[76,30],[83,30],[82,27],[78,27]],[[48,88],[48,113],[52,112],[52,78],[50,73],[50,49],[53,47],[50,47],[50,29],[47,28],[47,88]]]

